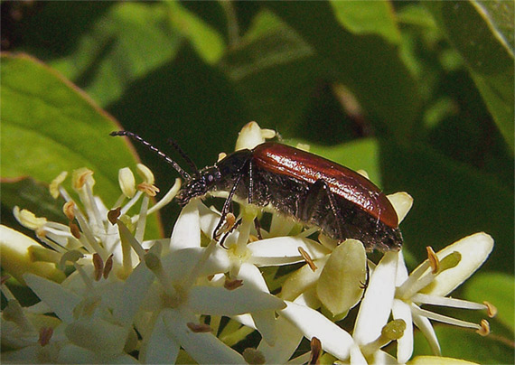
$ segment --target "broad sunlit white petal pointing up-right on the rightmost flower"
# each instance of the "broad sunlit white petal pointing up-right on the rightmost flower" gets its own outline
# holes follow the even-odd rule
[[[492,252],[492,248],[492,237],[481,232],[460,239],[438,251],[436,255],[439,259],[443,259],[454,251],[458,251],[462,255],[462,259],[456,267],[449,268],[436,276],[432,285],[426,287],[422,292],[428,295],[442,296],[451,293],[482,266],[482,263]]]

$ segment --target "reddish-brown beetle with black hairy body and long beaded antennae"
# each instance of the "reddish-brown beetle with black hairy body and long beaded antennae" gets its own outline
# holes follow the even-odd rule
[[[182,207],[209,192],[229,192],[215,236],[229,213],[231,201],[237,197],[259,207],[271,205],[286,216],[320,228],[339,242],[360,239],[367,250],[380,251],[402,246],[398,216],[387,196],[360,173],[316,154],[266,142],[251,150],[236,151],[199,170],[174,144],[192,166],[190,174],[132,132],[117,131],[111,136],[129,136],[172,164],[184,179],[175,197]]]

